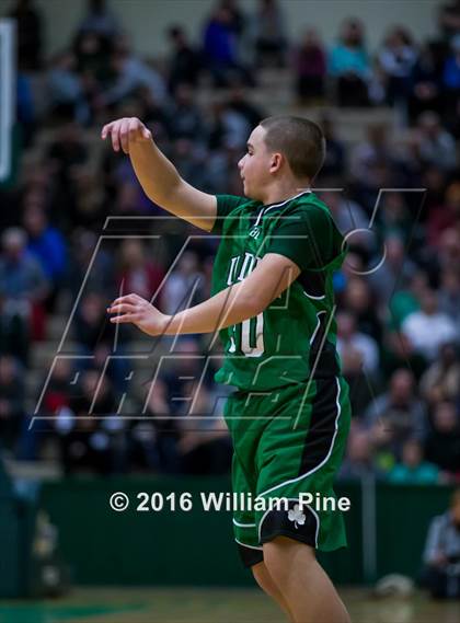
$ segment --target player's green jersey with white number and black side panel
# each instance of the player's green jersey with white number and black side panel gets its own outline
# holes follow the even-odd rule
[[[248,277],[266,253],[301,270],[257,316],[219,332],[216,381],[257,392],[340,374],[332,276],[346,249],[325,204],[310,191],[272,205],[218,195],[211,233],[221,235],[212,295]]]

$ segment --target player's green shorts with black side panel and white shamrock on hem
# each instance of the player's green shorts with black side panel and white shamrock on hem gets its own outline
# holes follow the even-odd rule
[[[237,391],[225,417],[234,447],[233,498],[241,503],[233,528],[243,563],[262,562],[262,545],[278,535],[322,551],[346,546],[342,512],[304,504],[335,498],[333,481],[350,423],[345,379],[319,378],[264,393]]]

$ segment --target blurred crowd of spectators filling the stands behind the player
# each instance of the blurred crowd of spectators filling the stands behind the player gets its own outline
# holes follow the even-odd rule
[[[54,445],[68,473],[229,470],[225,390],[212,381],[218,346],[199,336],[164,341],[174,365],[152,381],[159,350],[152,346],[139,380],[129,362],[138,334],[115,331],[105,313],[127,291],[146,298],[157,292],[154,302],[166,313],[205,300],[217,241],[194,239],[176,262],[196,230],[162,219],[129,160],[108,147],[96,149],[91,136],[111,118],[138,116],[191,184],[241,194],[237,161],[251,128],[271,113],[269,101],[261,109],[251,94],[269,67],[292,77],[292,104],[313,102],[324,111],[388,105],[402,124],[393,138],[392,128],[371,123],[364,140],[349,143],[333,113],[320,120],[329,151],[317,186],[346,193],[318,194],[350,247],[334,278],[337,349],[354,413],[341,476],[458,481],[460,3],[441,7],[433,41],[416,41],[406,26],[395,26],[371,54],[357,19],[346,20],[327,49],[308,24],[299,42],[289,41],[283,2],[263,0],[251,16],[243,3],[221,0],[200,45],[172,25],[166,58],[153,60],[136,54],[103,0],[89,2],[72,45],[46,58],[38,8],[32,0],[13,4],[25,148],[20,183],[0,188],[2,448],[37,460]],[[220,96],[199,104],[204,88]],[[48,140],[41,143],[44,129]],[[119,240],[101,243],[110,216],[124,217],[124,229],[111,230]],[[154,227],[142,221],[151,216],[159,217]],[[42,370],[34,399],[46,380],[38,415],[47,419],[28,431],[34,345],[47,338],[56,314],[70,321],[72,350],[62,339],[60,351],[73,358],[58,357],[49,378],[51,360]],[[216,359],[204,367],[209,351]],[[89,412],[100,417],[81,417]]]

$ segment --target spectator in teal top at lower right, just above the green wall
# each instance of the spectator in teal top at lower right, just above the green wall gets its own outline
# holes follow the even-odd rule
[[[407,439],[402,449],[402,459],[388,474],[395,484],[436,484],[439,470],[424,460],[423,447],[417,439]]]

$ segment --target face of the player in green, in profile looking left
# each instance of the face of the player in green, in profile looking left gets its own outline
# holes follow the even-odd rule
[[[238,163],[243,180],[244,195],[251,199],[263,200],[264,189],[271,180],[273,154],[268,152],[264,136],[265,129],[257,126],[248,139],[248,151]]]

